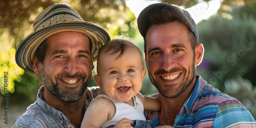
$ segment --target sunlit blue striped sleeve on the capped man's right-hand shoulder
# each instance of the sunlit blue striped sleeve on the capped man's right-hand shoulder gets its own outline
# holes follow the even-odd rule
[[[256,127],[256,122],[240,101],[227,99],[219,105],[214,127]]]

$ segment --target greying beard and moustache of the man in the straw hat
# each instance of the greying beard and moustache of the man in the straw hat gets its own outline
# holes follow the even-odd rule
[[[55,76],[56,83],[53,82],[51,77],[45,72],[44,68],[41,70],[42,73],[42,82],[47,87],[47,89],[56,97],[61,99],[65,102],[75,102],[78,101],[84,91],[86,91],[88,84],[91,80],[91,75],[87,77],[84,73],[75,73],[74,75],[70,75],[68,73],[59,73]],[[70,88],[61,88],[61,85],[58,83],[59,78],[65,77],[65,78],[81,78],[82,80],[82,86],[80,86],[80,89],[76,91],[77,87],[70,87]],[[86,79],[87,78],[87,79]],[[79,86],[78,86],[79,87]]]

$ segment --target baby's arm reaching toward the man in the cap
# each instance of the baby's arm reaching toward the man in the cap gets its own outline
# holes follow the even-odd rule
[[[143,96],[141,93],[138,93],[137,96],[142,101],[144,110],[159,111],[161,109],[161,104],[155,97]]]

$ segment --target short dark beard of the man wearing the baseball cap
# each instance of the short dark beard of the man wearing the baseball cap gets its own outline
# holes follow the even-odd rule
[[[164,84],[161,82],[162,77],[159,77],[160,74],[170,74],[178,71],[182,71],[182,74],[180,74],[180,76],[188,72],[187,77],[185,77],[184,75],[184,78],[181,82],[174,83],[174,84]],[[148,76],[150,77],[150,80],[153,83],[153,85],[157,88],[158,92],[161,93],[166,98],[174,98],[184,93],[190,86],[191,82],[193,81],[195,74],[196,74],[195,62],[193,62],[189,66],[188,71],[186,71],[185,68],[181,68],[181,67],[179,68],[175,67],[173,69],[170,69],[169,71],[160,69],[154,73],[154,76],[156,77],[153,77],[153,75],[151,75],[150,72],[148,72]]]

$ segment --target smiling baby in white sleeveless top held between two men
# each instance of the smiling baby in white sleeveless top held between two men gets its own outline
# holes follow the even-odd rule
[[[143,110],[159,111],[160,103],[139,93],[146,75],[140,49],[127,38],[107,42],[98,52],[97,73],[104,94],[91,102],[81,127],[151,127]]]

